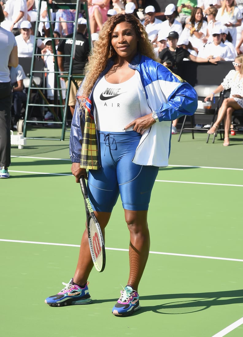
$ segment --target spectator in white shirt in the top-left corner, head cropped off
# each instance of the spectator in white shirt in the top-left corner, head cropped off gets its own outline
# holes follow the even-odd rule
[[[13,28],[20,28],[21,23],[28,19],[26,0],[8,0],[3,12],[5,20],[1,27],[10,32]]]

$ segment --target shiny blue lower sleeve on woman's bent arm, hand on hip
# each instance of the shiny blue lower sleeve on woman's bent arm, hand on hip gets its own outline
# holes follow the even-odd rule
[[[191,116],[197,110],[197,93],[187,82],[182,82],[155,112],[159,121],[173,121],[183,115]]]

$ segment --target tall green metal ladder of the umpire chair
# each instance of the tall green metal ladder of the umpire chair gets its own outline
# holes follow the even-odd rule
[[[41,4],[46,2],[46,8],[47,8],[47,15],[48,15],[48,22],[50,24],[50,38],[52,41],[52,49],[53,49],[53,57],[54,57],[54,73],[55,75],[55,85],[54,88],[48,88],[48,89],[53,89],[54,90],[54,104],[49,104],[47,98],[44,95],[44,91],[47,89],[45,88],[45,81],[44,81],[44,76],[45,73],[48,73],[46,69],[43,68],[43,70],[35,70],[35,61],[36,58],[40,58],[42,54],[36,53],[37,51],[37,40],[42,39],[44,40],[46,37],[38,36],[38,27],[39,23],[42,22],[40,19],[41,15]],[[34,50],[33,50],[33,55],[32,55],[32,60],[31,60],[31,71],[30,71],[30,85],[28,89],[28,95],[27,95],[27,104],[26,104],[26,113],[25,113],[25,119],[23,123],[23,135],[25,139],[28,139],[27,137],[27,124],[33,124],[33,120],[30,119],[31,113],[34,109],[34,107],[38,106],[41,110],[42,113],[42,119],[43,120],[36,120],[34,123],[37,124],[42,124],[42,126],[45,126],[45,124],[50,123],[49,121],[44,121],[44,109],[48,108],[48,111],[52,113],[54,116],[54,121],[51,122],[53,124],[60,125],[62,127],[62,134],[60,135],[60,138],[46,138],[46,137],[30,137],[31,139],[45,139],[45,140],[61,140],[63,141],[65,139],[65,132],[66,132],[66,118],[67,118],[67,111],[68,111],[68,101],[69,101],[69,93],[70,93],[70,87],[71,87],[71,81],[73,81],[77,87],[76,82],[74,81],[75,78],[82,78],[83,76],[78,75],[72,75],[72,69],[73,69],[73,59],[75,55],[75,43],[72,44],[72,50],[70,55],[62,55],[62,57],[70,57],[70,67],[69,71],[62,72],[63,75],[60,75],[59,69],[58,69],[58,64],[57,64],[57,54],[56,54],[56,49],[55,49],[55,39],[53,36],[53,28],[51,24],[54,24],[55,22],[52,20],[51,17],[51,11],[50,10],[55,10],[55,9],[76,9],[75,12],[75,21],[63,21],[66,23],[72,22],[74,24],[74,31],[73,31],[73,41],[76,40],[76,34],[77,34],[77,26],[78,26],[78,17],[79,13],[81,10],[84,10],[86,20],[87,20],[87,30],[88,30],[88,36],[89,36],[89,44],[90,47],[92,46],[92,41],[91,41],[91,34],[90,34],[90,25],[89,25],[89,16],[88,16],[88,4],[87,0],[64,0],[64,1],[53,1],[52,3],[49,3],[49,0],[40,0],[38,4],[38,10],[37,10],[37,20],[36,20],[36,26],[35,26],[35,45],[34,45]],[[62,39],[67,39],[65,36],[58,38],[60,40]],[[60,56],[60,55],[58,55]],[[35,81],[35,74],[41,74],[43,81],[41,86],[38,85]],[[60,85],[60,77],[67,77],[68,76],[68,85],[66,89],[66,99],[65,99],[65,104],[62,103],[62,91],[65,90],[64,88],[61,87]],[[78,89],[78,88],[77,88]],[[38,93],[39,95],[39,102],[31,102],[32,100],[32,93],[34,92]],[[57,97],[57,92],[59,93],[59,98]],[[55,113],[55,108],[60,109],[60,113],[62,116],[62,121],[60,121],[57,117],[57,114]]]

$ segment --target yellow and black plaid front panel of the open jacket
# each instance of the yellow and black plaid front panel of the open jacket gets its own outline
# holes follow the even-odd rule
[[[85,109],[85,125],[81,150],[80,167],[87,170],[98,170],[99,168],[98,141],[93,118]]]

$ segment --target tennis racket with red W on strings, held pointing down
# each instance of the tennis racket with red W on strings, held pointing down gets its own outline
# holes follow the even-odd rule
[[[103,272],[106,265],[106,252],[102,231],[90,205],[84,176],[79,179],[87,217],[88,240],[94,267],[98,272]]]

